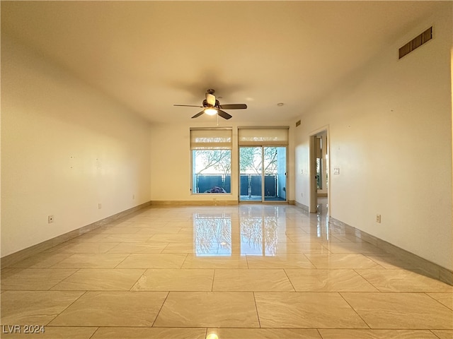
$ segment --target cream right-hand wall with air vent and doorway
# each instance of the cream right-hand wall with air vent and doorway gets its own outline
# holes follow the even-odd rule
[[[331,216],[450,270],[452,22],[445,1],[384,47],[304,112],[294,146],[297,202],[309,206],[309,135],[328,126]],[[430,25],[434,39],[398,61],[398,48]]]

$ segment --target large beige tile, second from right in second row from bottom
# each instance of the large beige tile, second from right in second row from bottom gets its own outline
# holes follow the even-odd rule
[[[453,311],[424,293],[341,295],[371,328],[453,329]]]

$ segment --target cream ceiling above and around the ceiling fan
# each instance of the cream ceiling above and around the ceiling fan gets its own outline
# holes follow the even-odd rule
[[[248,105],[231,121],[256,123],[297,119],[435,6],[1,1],[1,30],[151,122],[190,121],[200,109],[173,104],[201,105],[214,88],[221,104]]]

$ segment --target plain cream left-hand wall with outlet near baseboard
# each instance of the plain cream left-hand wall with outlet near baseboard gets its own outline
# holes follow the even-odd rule
[[[149,124],[2,34],[2,257],[149,201],[149,153]]]

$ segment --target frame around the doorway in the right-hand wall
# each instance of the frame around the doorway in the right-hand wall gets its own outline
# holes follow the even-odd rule
[[[328,159],[326,160],[327,171],[326,174],[328,175],[328,186],[327,186],[327,201],[329,210],[331,209],[331,138],[329,133],[329,126],[323,126],[320,129],[316,129],[309,134],[309,190],[310,190],[310,200],[309,200],[309,213],[317,213],[318,212],[318,187],[316,184],[316,137],[319,134],[326,134],[327,135],[327,143],[326,143],[326,153],[329,155]]]

